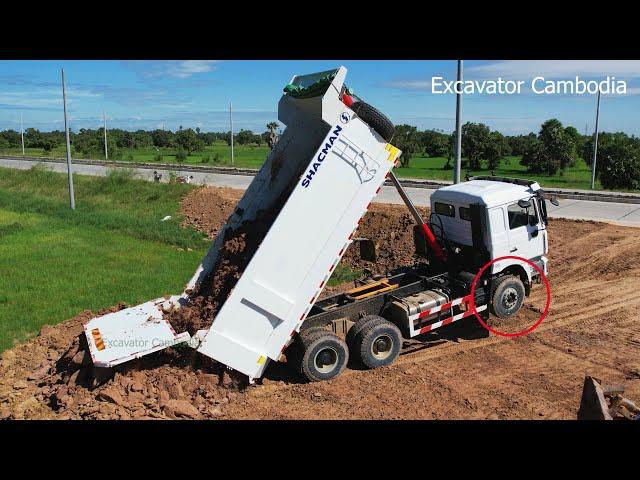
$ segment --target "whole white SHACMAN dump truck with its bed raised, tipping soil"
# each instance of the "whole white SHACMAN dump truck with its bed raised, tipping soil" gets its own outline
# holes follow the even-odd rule
[[[278,117],[286,129],[181,295],[159,298],[85,325],[97,367],[113,367],[179,343],[250,381],[286,360],[309,380],[334,378],[349,358],[368,368],[393,363],[403,338],[470,316],[471,284],[490,260],[519,256],[547,272],[545,199],[535,182],[478,178],[431,195],[424,221],[392,173],[400,150],[393,125],[345,85],[344,67],[295,76]],[[367,208],[390,179],[414,215],[424,259],[318,301]],[[214,270],[226,235],[272,212],[271,224],[211,327],[175,332],[166,312],[189,303]],[[273,214],[275,212],[275,214]],[[373,242],[358,239],[375,261]],[[494,263],[478,282],[475,311],[514,315],[537,270]],[[214,279],[211,279],[215,281]]]

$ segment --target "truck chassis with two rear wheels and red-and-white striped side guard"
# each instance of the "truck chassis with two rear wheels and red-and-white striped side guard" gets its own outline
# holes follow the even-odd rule
[[[403,340],[473,315],[474,278],[465,271],[433,274],[429,265],[417,264],[363,281],[347,292],[316,301],[300,332],[283,349],[284,357],[311,381],[339,375],[349,357],[368,368],[389,365],[400,354]],[[475,310],[485,321],[491,283],[483,278],[474,291]],[[418,310],[404,312],[405,303],[417,305]],[[363,338],[367,324],[374,331],[368,339]],[[341,356],[340,349],[348,353]]]

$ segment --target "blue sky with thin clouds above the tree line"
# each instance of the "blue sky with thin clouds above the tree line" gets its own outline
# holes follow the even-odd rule
[[[455,61],[0,61],[0,130],[62,130],[60,67],[67,78],[70,126],[97,128],[102,112],[108,127],[125,129],[200,127],[228,130],[229,100],[235,129],[264,131],[277,119],[282,87],[294,74],[349,69],[347,84],[396,123],[452,131],[455,96],[431,93],[432,76],[454,80]],[[601,131],[640,135],[638,61],[466,61],[465,80],[625,80],[626,95],[603,96]],[[548,118],[593,130],[595,96],[465,95],[463,121],[483,122],[504,134],[537,132]]]

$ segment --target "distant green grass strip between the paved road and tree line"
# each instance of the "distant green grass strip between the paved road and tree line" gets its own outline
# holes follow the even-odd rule
[[[21,155],[20,149],[0,151],[0,154]],[[44,156],[41,149],[27,149],[27,156]],[[161,154],[162,159],[157,160],[157,155]],[[64,157],[63,147],[55,149],[49,156]],[[217,160],[216,160],[217,155]],[[235,166],[238,168],[260,168],[269,155],[267,146],[258,147],[256,145],[236,145],[234,149]],[[74,155],[77,158],[86,155]],[[98,160],[104,160],[103,156],[90,156]],[[203,158],[208,158],[203,162]],[[122,150],[120,161],[133,162],[160,162],[160,163],[180,163],[182,165],[200,166],[231,166],[231,149],[226,143],[216,144],[207,147],[204,151],[194,153],[187,157],[184,162],[177,162],[174,149],[164,149],[157,151],[155,148]],[[413,157],[407,168],[398,168],[397,175],[401,178],[422,178],[427,180],[451,180],[453,170],[443,170],[446,159],[443,157],[425,158]],[[488,175],[488,170],[473,171],[474,175]],[[518,177],[537,180],[543,187],[578,188],[589,189],[591,187],[591,170],[587,164],[579,159],[575,166],[568,168],[563,175],[560,173],[549,176],[544,174],[527,173],[526,167],[520,165],[520,157],[506,157],[500,162],[499,168],[495,169],[496,175],[506,177]],[[463,173],[464,175],[464,173]],[[602,189],[600,182],[596,180],[596,189]]]

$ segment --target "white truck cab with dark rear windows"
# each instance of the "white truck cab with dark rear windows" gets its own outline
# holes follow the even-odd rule
[[[477,271],[500,257],[520,257],[547,274],[547,211],[537,182],[475,177],[436,190],[430,203],[430,226],[453,263]],[[494,277],[519,277],[527,294],[539,280],[538,271],[517,258],[499,260],[488,270]]]

